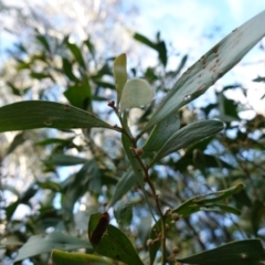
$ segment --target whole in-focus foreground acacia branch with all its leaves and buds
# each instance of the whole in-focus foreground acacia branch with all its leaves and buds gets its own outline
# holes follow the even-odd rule
[[[265,255],[259,240],[232,242],[188,257],[180,257],[181,250],[177,245],[168,245],[169,231],[180,219],[202,209],[218,208],[224,212],[237,213],[237,209],[222,201],[243,189],[243,183],[239,182],[229,189],[212,193],[198,194],[182,203],[176,202],[174,208],[167,208],[160,200],[159,187],[151,178],[151,171],[156,163],[167,156],[223,130],[224,125],[220,120],[200,120],[180,126],[180,108],[202,95],[230,71],[265,35],[264,25],[265,11],[224,38],[182,74],[162,102],[153,107],[151,115],[147,116],[148,120],[145,126],[139,126],[137,129],[129,126],[128,112],[130,108],[153,105],[155,93],[147,81],[128,80],[126,54],[120,54],[114,61],[113,71],[117,96],[115,100],[109,100],[105,106],[113,110],[118,120],[117,124],[108,124],[92,112],[82,109],[82,104],[78,108],[55,102],[26,100],[1,107],[0,132],[36,128],[82,128],[84,130],[102,128],[120,134],[121,146],[128,158],[128,170],[124,171],[123,177],[116,183],[113,198],[103,212],[96,212],[89,216],[88,241],[55,233],[44,237],[33,235],[20,248],[15,262],[45,252],[52,245],[54,250],[51,258],[54,264],[59,265],[118,264],[118,262],[131,265],[177,262],[201,265],[263,263]],[[136,35],[137,38],[142,42],[146,41],[140,35]],[[146,44],[150,45],[148,41]],[[166,59],[161,55],[160,60],[163,62]],[[72,89],[66,94],[71,103],[75,103],[76,98],[82,96],[76,93]],[[141,190],[152,216],[150,234],[146,242],[149,261],[141,258],[121,230],[109,224],[110,210],[132,187]],[[86,248],[89,254],[65,252],[74,248]]]

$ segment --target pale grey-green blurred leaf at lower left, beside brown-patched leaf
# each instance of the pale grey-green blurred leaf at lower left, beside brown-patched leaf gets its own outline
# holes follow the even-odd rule
[[[63,251],[77,248],[92,250],[91,244],[87,241],[54,232],[49,235],[31,236],[28,242],[19,250],[19,254],[15,257],[14,262],[19,262],[28,257],[39,255],[41,253],[51,252],[53,248]]]

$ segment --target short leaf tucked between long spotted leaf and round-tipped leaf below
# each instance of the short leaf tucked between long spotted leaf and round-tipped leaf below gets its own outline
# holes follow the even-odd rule
[[[178,114],[172,113],[161,120],[152,129],[147,142],[142,147],[144,151],[158,151],[165,142],[179,129],[180,119]]]

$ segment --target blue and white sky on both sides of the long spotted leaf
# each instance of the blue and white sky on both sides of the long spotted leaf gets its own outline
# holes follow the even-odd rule
[[[264,0],[145,0],[137,6],[139,18],[131,26],[150,39],[155,39],[156,32],[160,31],[162,39],[172,43],[180,54],[189,53],[187,66],[192,65],[232,30],[265,10]],[[262,43],[265,46],[265,39]],[[257,61],[261,63],[256,64]],[[150,62],[151,59],[148,60]],[[259,100],[265,93],[264,84],[252,82],[257,75],[265,75],[264,62],[265,53],[256,45],[214,88],[240,82],[251,88],[247,98],[240,92],[229,96],[242,103],[248,102],[252,108],[265,114],[265,102]],[[171,63],[173,67],[176,62]],[[201,102],[208,99],[209,93],[201,97]]]

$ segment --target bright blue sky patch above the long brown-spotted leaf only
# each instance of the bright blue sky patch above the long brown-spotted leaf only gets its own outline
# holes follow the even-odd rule
[[[195,41],[214,28],[220,28],[224,36],[265,9],[264,0],[145,0],[137,3],[140,15],[136,26],[150,38],[158,30],[167,41],[179,42],[187,39]],[[191,45],[191,43],[189,43]],[[206,49],[199,46],[200,50]],[[203,51],[201,51],[203,52]]]

